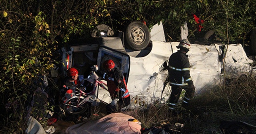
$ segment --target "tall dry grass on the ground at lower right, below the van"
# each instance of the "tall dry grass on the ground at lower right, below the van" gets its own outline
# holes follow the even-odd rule
[[[225,85],[205,89],[195,96],[190,105],[168,112],[167,104],[150,104],[147,108],[126,111],[142,122],[142,127],[163,127],[163,124],[184,124],[174,133],[223,134],[219,126],[222,120],[243,121],[256,126],[256,80],[241,75],[226,79]],[[256,133],[252,127],[251,133]]]

